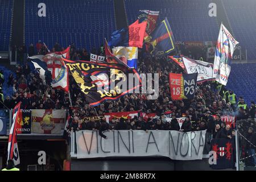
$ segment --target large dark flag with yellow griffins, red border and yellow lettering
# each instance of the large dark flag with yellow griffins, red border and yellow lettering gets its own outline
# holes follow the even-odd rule
[[[85,94],[86,101],[92,106],[100,105],[105,100],[117,100],[134,91],[139,93],[141,78],[134,68],[115,63],[63,60]]]

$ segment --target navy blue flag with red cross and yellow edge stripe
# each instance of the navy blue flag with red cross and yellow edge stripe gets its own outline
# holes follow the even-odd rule
[[[145,38],[145,42],[152,55],[168,55],[175,51],[174,36],[167,18]]]

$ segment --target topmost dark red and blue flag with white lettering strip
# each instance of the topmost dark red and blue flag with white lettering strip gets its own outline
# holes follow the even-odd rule
[[[147,22],[147,34],[150,34],[155,29],[158,15],[159,11],[139,10],[138,20],[139,23]]]

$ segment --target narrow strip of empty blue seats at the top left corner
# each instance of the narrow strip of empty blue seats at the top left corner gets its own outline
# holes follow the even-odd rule
[[[11,36],[13,0],[0,0],[0,51],[8,51]]]

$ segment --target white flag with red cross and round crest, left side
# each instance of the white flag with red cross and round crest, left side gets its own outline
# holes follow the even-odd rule
[[[39,72],[42,80],[51,80],[52,88],[63,89],[65,92],[68,92],[69,89],[68,69],[62,57],[70,59],[69,49],[70,47],[61,52],[51,52],[47,55],[28,57],[28,60],[31,61],[34,68]]]

